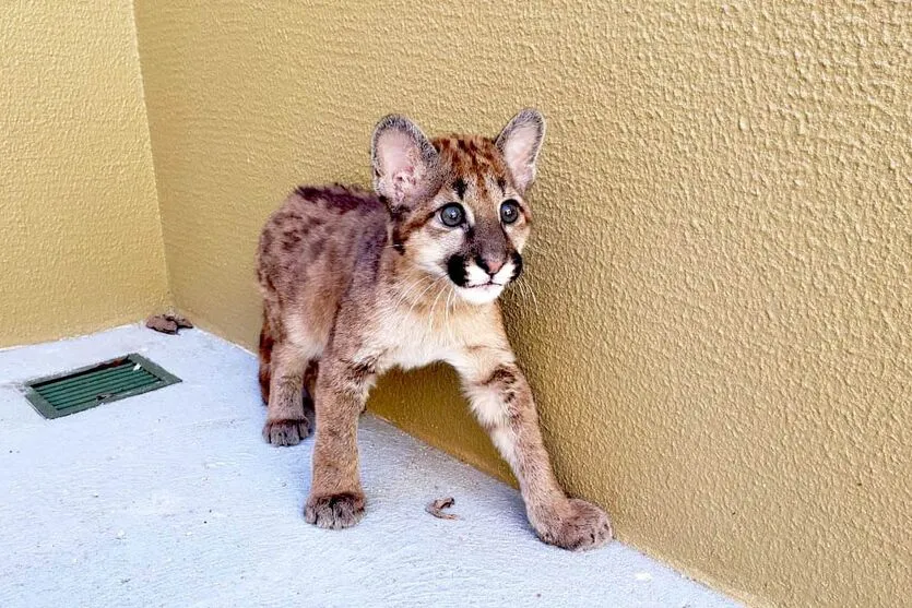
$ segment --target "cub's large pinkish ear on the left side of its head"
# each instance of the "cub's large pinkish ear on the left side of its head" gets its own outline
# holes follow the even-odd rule
[[[390,115],[377,123],[370,156],[374,188],[393,207],[408,206],[431,190],[439,174],[434,145],[404,116]]]

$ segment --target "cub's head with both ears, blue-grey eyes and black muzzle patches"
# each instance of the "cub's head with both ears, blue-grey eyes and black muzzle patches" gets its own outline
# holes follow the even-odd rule
[[[448,277],[472,303],[495,300],[522,272],[545,121],[519,112],[494,139],[428,140],[402,116],[374,131],[374,187],[393,218],[392,246],[434,277]]]

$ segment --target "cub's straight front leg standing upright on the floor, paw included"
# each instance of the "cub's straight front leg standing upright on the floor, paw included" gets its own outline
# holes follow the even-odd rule
[[[376,378],[376,359],[330,356],[317,377],[317,440],[313,480],[304,509],[305,520],[340,529],[364,517],[364,491],[358,473],[358,416]]]

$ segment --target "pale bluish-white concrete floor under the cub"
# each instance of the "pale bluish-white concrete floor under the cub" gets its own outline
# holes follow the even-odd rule
[[[183,382],[44,420],[16,383],[125,353]],[[312,439],[272,448],[249,353],[127,326],[0,351],[0,606],[734,606],[618,543],[543,545],[518,493],[370,416],[368,512],[301,516]],[[452,496],[460,518],[425,512]]]

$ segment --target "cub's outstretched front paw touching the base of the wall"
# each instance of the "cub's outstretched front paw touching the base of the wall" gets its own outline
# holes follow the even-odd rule
[[[592,503],[569,499],[536,526],[538,537],[548,545],[571,551],[585,551],[612,539],[612,524],[604,511]]]

